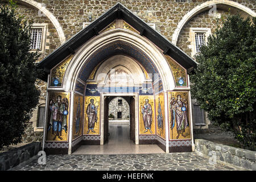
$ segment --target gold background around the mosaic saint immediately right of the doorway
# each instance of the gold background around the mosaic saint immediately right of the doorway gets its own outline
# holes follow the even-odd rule
[[[142,108],[145,105],[145,100],[148,99],[151,106],[151,131],[145,129],[144,121],[143,121],[143,114],[142,114]],[[149,110],[148,110],[149,111]],[[148,115],[148,118],[150,118],[150,115]],[[144,132],[146,131],[146,132]],[[139,96],[139,134],[155,134],[155,105],[154,105],[154,96]]]

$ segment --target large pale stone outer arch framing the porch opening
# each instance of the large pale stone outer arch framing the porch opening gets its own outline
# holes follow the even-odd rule
[[[134,34],[131,31],[118,28],[96,36],[84,44],[79,51],[77,51],[65,73],[66,76],[64,77],[63,81],[63,89],[66,92],[74,91],[76,80],[79,77],[79,72],[86,63],[86,60],[88,60],[88,58],[93,55],[97,49],[100,49],[101,47],[117,40],[121,40],[138,47],[149,57],[150,60],[152,60],[152,63],[159,71],[159,76],[162,79],[164,91],[173,90],[175,88],[174,77],[172,76],[171,69],[163,53],[160,52],[159,49],[154,46],[154,44],[142,36]]]

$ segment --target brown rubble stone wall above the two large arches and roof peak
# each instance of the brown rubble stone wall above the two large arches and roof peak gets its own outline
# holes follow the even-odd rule
[[[120,2],[146,23],[156,23],[156,30],[170,41],[177,23],[180,22],[183,16],[196,6],[207,1],[191,0],[190,2],[181,3],[175,2],[175,0],[36,0],[36,2],[46,4],[46,9],[51,11],[59,20],[67,40],[82,29],[83,22],[89,22],[89,15],[92,16],[93,21],[117,2]],[[233,1],[254,11],[256,10],[256,2],[253,0]]]

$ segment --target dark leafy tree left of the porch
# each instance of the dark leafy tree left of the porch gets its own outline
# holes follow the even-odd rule
[[[0,148],[21,141],[40,94],[35,86],[38,55],[29,52],[31,24],[10,2],[0,5]]]

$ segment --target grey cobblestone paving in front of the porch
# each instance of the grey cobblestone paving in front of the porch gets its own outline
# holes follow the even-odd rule
[[[239,170],[222,164],[210,164],[207,158],[195,152],[171,154],[125,155],[48,155],[46,164],[38,164],[38,157],[11,170],[94,170],[94,171],[222,171]]]

